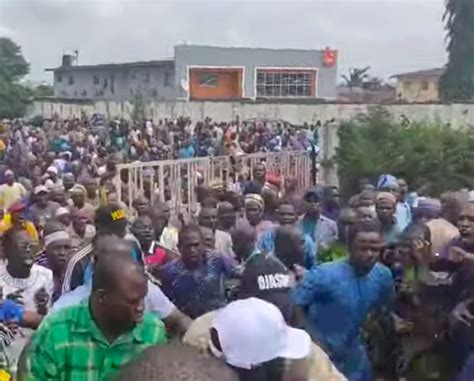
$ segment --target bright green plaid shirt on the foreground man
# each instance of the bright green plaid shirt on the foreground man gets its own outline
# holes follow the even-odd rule
[[[166,330],[145,313],[131,332],[109,343],[92,319],[86,299],[46,318],[31,343],[27,380],[101,381],[145,348],[166,343]]]

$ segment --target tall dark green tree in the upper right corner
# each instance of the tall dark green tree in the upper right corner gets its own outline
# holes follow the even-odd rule
[[[474,100],[474,2],[446,0],[448,65],[440,79],[446,101]]]

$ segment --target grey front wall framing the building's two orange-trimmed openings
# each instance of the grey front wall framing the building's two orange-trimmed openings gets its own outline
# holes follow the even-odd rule
[[[337,65],[323,65],[324,52],[296,49],[217,48],[208,46],[176,46],[175,69],[178,97],[189,98],[189,68],[243,67],[243,97],[256,97],[257,68],[317,69],[316,96],[337,97]]]

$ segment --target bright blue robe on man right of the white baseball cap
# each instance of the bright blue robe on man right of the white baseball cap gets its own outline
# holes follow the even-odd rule
[[[309,332],[350,381],[371,381],[360,329],[369,312],[394,299],[390,270],[376,263],[358,277],[347,258],[315,267],[296,287],[293,302],[303,307]]]

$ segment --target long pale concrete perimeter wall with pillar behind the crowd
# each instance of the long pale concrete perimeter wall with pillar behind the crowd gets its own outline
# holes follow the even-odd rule
[[[191,117],[203,120],[211,117],[215,121],[230,121],[237,116],[240,120],[251,118],[283,119],[293,124],[321,121],[320,131],[321,159],[330,159],[338,146],[337,123],[324,124],[350,119],[365,113],[371,105],[362,104],[296,104],[296,103],[247,103],[247,102],[152,102],[147,105],[147,114],[156,120],[163,118]],[[397,118],[412,121],[441,121],[453,128],[474,126],[474,104],[393,104],[384,107]],[[61,101],[38,100],[28,110],[28,116],[55,114],[66,117],[79,117],[82,113],[92,115],[101,113],[108,118],[129,119],[133,110],[131,102],[105,101]],[[323,181],[337,184],[335,168],[323,171]]]

